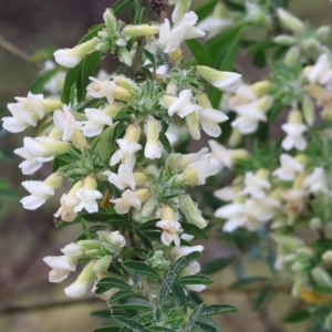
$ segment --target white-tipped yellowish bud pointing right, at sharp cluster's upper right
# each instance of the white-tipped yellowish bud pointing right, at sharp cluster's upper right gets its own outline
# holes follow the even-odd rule
[[[197,73],[221,91],[235,92],[241,84],[241,75],[237,73],[220,72],[205,65],[197,65]]]

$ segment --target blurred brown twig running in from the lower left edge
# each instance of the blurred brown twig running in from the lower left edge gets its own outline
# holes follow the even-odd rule
[[[71,305],[81,305],[86,303],[101,303],[100,298],[89,298],[81,300],[66,300],[66,301],[56,301],[48,303],[35,303],[31,305],[20,307],[20,305],[9,305],[7,308],[0,309],[0,314],[14,314],[14,313],[29,313],[34,311],[45,311],[56,308],[71,307]]]

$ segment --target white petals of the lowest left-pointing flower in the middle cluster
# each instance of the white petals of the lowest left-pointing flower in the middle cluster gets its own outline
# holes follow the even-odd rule
[[[20,203],[23,205],[23,208],[28,210],[38,209],[50,196],[54,195],[54,189],[43,181],[22,181],[22,186],[31,194],[20,200]]]

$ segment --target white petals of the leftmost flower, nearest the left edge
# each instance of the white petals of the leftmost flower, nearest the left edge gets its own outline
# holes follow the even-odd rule
[[[3,128],[10,133],[23,132],[27,127],[35,126],[44,116],[43,95],[28,93],[28,97],[15,97],[18,103],[7,105],[12,116],[2,117]]]

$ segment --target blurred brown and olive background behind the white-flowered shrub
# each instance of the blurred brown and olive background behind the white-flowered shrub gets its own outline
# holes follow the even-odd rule
[[[196,1],[200,3],[204,0]],[[25,96],[29,83],[41,70],[39,64],[29,63],[24,58],[45,46],[72,46],[93,24],[101,22],[106,7],[115,1],[91,0],[0,0],[0,108],[13,102],[14,96]],[[313,25],[330,24],[332,4],[329,0],[291,0],[290,8],[303,20]],[[10,43],[8,45],[7,42]],[[330,40],[331,44],[331,40]],[[12,45],[20,50],[20,56],[8,51]],[[105,60],[105,68],[112,71],[112,58]],[[24,132],[24,135],[33,132]],[[22,146],[23,135],[7,134],[0,139],[0,146],[9,151]],[[20,183],[24,179],[18,164],[0,160],[0,179],[13,184],[20,196],[24,189]],[[50,169],[44,167],[34,176],[46,177]],[[59,198],[59,197],[58,197]],[[0,198],[1,199],[1,198]],[[44,256],[61,255],[60,248],[74,240],[80,234],[75,227],[58,230],[53,226],[52,215],[58,209],[59,199],[51,199],[37,211],[23,210],[17,201],[3,201],[0,211],[0,311],[12,307],[31,307],[56,301],[68,301],[63,289],[75,276],[61,284],[48,281],[49,268],[43,263]],[[205,258],[228,256],[230,249],[210,240],[205,243]],[[261,270],[256,263],[248,263],[249,271]],[[264,271],[260,271],[263,273]],[[232,270],[226,269],[212,276],[216,280],[210,290],[204,293],[207,302],[235,305],[239,313],[221,318],[220,329],[248,332],[305,331],[305,325],[284,326],[280,323],[291,309],[301,308],[301,303],[287,293],[280,293],[269,301],[267,309],[252,313],[255,293],[226,290],[234,281]],[[46,308],[38,310],[0,314],[0,331],[10,332],[90,332],[96,326],[107,325],[107,321],[90,315],[92,310],[105,309],[102,301],[87,295],[77,305]],[[32,308],[33,309],[33,308]]]

